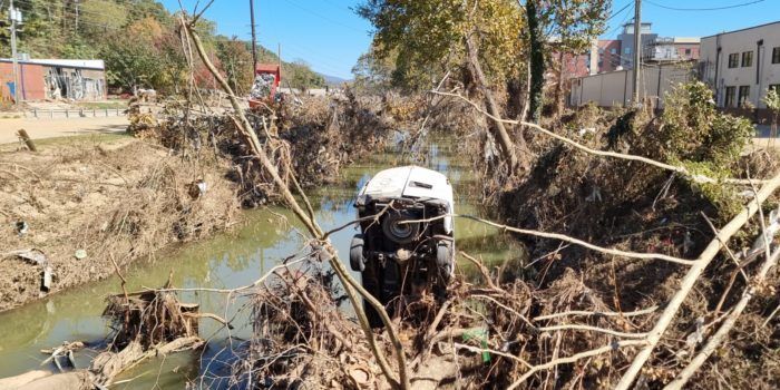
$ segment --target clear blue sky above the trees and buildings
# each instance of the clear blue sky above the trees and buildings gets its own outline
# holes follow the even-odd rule
[[[169,10],[178,0],[162,0]],[[780,0],[764,0],[741,8],[716,11],[674,11],[673,8],[716,8],[757,0],[644,0],[642,19],[653,22],[653,31],[664,37],[703,37],[780,20]],[[192,11],[196,0],[182,1]],[[201,3],[207,0],[201,0]],[[620,10],[634,0],[613,0]],[[371,25],[351,8],[358,0],[255,0],[261,45],[272,50],[282,43],[286,61],[304,60],[322,74],[351,78],[351,69],[370,42]],[[633,6],[610,20],[604,38],[617,36],[620,25],[631,21]],[[217,22],[225,36],[248,40],[248,0],[216,0],[206,16]]]

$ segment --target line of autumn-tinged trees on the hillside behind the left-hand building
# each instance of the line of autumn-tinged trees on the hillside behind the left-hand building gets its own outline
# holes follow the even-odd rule
[[[0,20],[8,20],[8,2]],[[178,12],[156,0],[14,0],[25,22],[18,51],[31,58],[101,59],[108,86],[117,91],[154,88],[182,94],[191,77],[201,88],[215,89],[213,77],[193,56],[194,72],[178,29]],[[213,62],[238,94],[253,82],[251,43],[216,32],[216,22],[201,18],[197,30]],[[0,29],[0,56],[11,56],[10,32]],[[277,64],[260,47],[260,62]],[[324,78],[305,62],[283,62],[283,82],[299,89],[322,87]]]

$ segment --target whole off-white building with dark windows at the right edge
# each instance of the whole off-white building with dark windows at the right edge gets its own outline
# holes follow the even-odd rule
[[[719,107],[759,108],[759,121],[767,90],[780,88],[780,21],[702,38],[699,71]]]

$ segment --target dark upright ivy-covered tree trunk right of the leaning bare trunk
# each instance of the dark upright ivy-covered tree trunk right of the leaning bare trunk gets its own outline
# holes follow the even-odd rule
[[[538,0],[526,2],[528,17],[528,38],[530,47],[530,92],[528,107],[528,121],[537,124],[542,117],[545,88],[545,40],[539,20]]]

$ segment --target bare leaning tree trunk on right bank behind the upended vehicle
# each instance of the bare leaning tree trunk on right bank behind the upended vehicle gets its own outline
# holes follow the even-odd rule
[[[496,99],[493,97],[493,91],[488,87],[487,78],[482,72],[482,67],[479,65],[477,47],[474,42],[474,38],[471,35],[466,37],[466,49],[468,51],[469,70],[471,72],[475,84],[477,85],[477,88],[482,94],[482,96],[485,96],[485,101],[487,103],[488,111],[495,118],[500,118],[501,110],[499,109]],[[509,172],[514,173],[517,168],[517,155],[515,154],[515,145],[511,142],[509,133],[507,133],[504,123],[501,123],[500,120],[493,120],[493,123],[494,126],[490,126],[490,128],[493,129],[496,139],[498,139],[498,144],[500,145],[504,159],[507,162],[507,164],[509,164]]]

